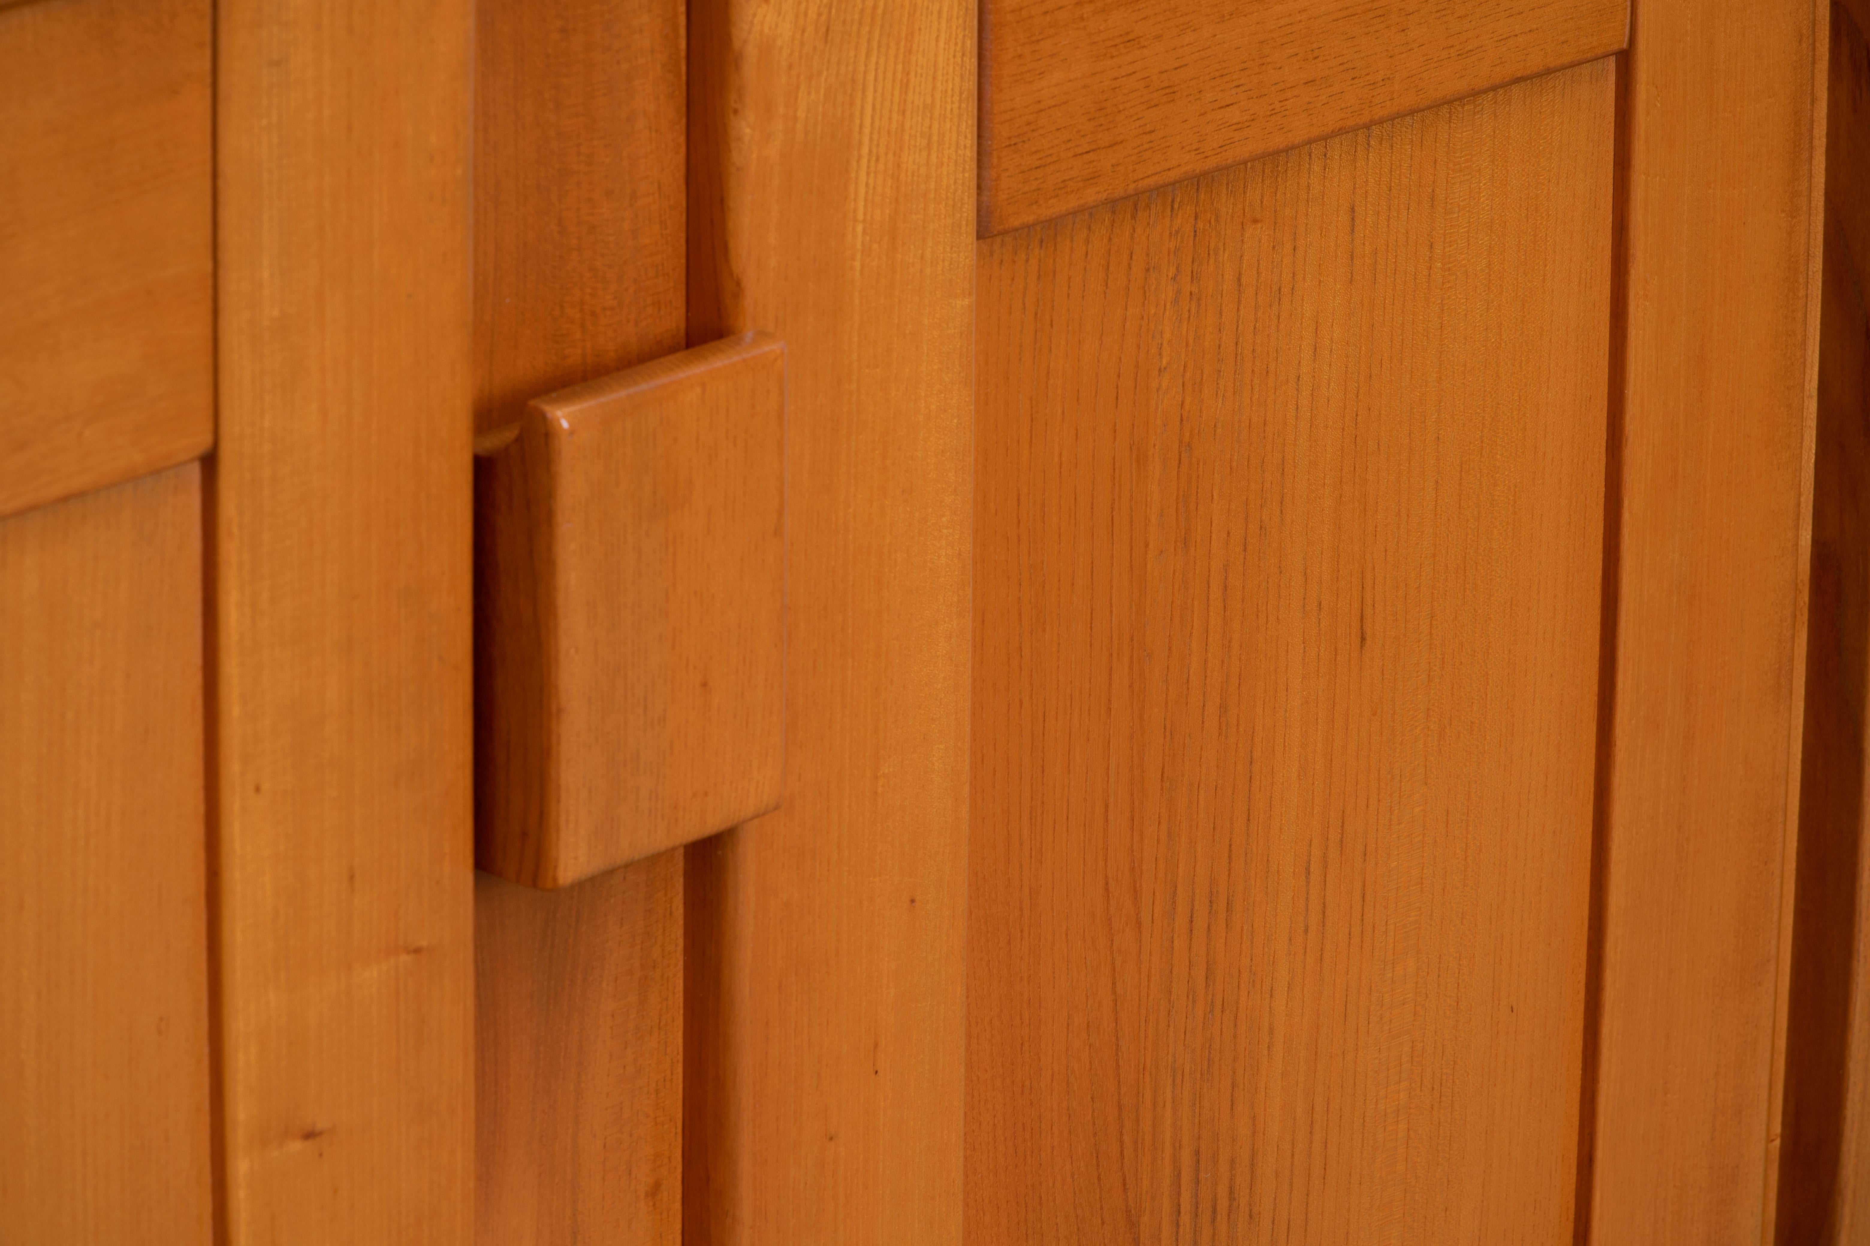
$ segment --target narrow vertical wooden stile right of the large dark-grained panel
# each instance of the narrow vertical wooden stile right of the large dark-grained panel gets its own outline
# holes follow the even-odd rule
[[[1636,6],[1591,1240],[1773,1235],[1823,9]]]

